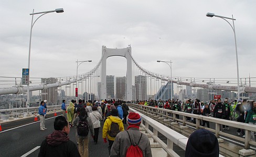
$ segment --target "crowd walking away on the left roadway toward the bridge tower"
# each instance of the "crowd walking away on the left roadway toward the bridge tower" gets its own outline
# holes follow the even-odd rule
[[[44,106],[45,102],[41,102],[39,107],[41,130],[46,130]],[[109,156],[152,156],[150,141],[139,131],[141,117],[139,114],[129,113],[129,106],[125,101],[111,99],[102,102],[95,100],[85,102],[79,99],[78,104],[76,100],[71,100],[66,105],[66,101],[62,100],[61,109],[62,116],[56,117],[54,122],[55,131],[42,142],[38,156],[87,157],[90,138],[93,138],[94,144],[98,144],[99,141],[108,143],[106,149]],[[104,125],[101,126],[103,120]],[[125,131],[124,126],[127,124],[129,127]],[[76,142],[70,141],[68,137],[72,127],[76,129]],[[99,137],[100,127],[102,127],[102,138]]]

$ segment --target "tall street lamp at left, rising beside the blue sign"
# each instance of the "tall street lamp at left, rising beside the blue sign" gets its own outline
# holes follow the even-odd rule
[[[33,9],[33,13],[29,14],[29,15],[32,15],[32,20],[31,20],[31,27],[30,27],[30,36],[29,36],[29,48],[28,48],[28,70],[30,68],[30,50],[31,50],[31,36],[32,36],[32,28],[33,26],[35,25],[36,21],[43,15],[47,14],[47,13],[53,13],[53,12],[56,12],[56,13],[63,13],[64,10],[63,8],[58,8],[58,9],[55,9],[55,10],[50,10],[50,11],[46,11],[46,12],[38,12],[38,13],[34,13],[34,9]],[[42,14],[40,15],[35,21],[33,20],[34,18],[34,15],[35,14]],[[28,75],[28,85],[27,85],[27,101],[28,101],[28,107],[29,107],[29,75]]]

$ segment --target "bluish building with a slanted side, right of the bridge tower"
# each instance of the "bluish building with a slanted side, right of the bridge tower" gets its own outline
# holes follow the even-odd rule
[[[173,85],[172,85],[172,87],[173,87]],[[168,100],[168,99],[170,99],[170,97],[171,97],[170,88],[171,88],[170,82],[167,82],[166,85],[162,85],[159,88],[159,91],[155,94],[154,99],[155,100],[159,100],[159,99]]]

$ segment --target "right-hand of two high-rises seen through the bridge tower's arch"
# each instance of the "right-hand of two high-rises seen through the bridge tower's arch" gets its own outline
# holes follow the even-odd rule
[[[126,77],[115,77],[115,97],[117,99],[125,99]]]

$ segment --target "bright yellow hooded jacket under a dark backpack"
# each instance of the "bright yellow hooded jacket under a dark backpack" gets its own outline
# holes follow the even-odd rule
[[[109,140],[114,141],[115,138],[114,137],[110,137],[108,134],[108,131],[111,128],[111,124],[112,122],[116,122],[119,125],[119,130],[120,131],[124,131],[124,125],[122,120],[118,117],[118,116],[109,116],[106,118],[105,122],[104,122],[104,126],[102,129],[102,138],[106,138],[108,137]]]

